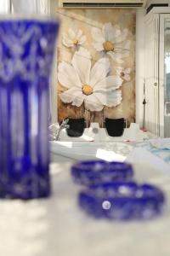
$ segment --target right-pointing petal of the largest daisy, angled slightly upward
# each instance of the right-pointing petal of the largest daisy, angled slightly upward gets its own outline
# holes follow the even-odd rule
[[[122,79],[118,76],[109,76],[99,81],[94,86],[94,92],[111,91],[116,90],[122,86]]]

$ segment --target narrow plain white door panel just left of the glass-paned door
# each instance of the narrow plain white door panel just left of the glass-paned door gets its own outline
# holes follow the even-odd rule
[[[145,21],[145,125],[156,136],[160,134],[159,124],[159,15],[151,15]]]

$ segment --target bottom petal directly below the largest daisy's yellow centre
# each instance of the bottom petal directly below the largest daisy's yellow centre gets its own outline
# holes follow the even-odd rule
[[[96,96],[94,96],[94,94],[86,97],[86,99],[84,100],[84,105],[85,108],[90,111],[101,111],[104,108],[102,103]]]

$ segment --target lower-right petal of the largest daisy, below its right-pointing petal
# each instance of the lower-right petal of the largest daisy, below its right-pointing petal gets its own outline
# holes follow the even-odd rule
[[[121,90],[113,90],[109,93],[95,92],[94,95],[99,99],[99,102],[110,108],[116,107],[122,102]]]

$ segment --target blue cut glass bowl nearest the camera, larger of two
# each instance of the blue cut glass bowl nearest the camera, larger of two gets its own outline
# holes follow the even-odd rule
[[[94,218],[148,219],[161,213],[165,197],[156,186],[137,183],[100,183],[78,195],[80,207]]]

